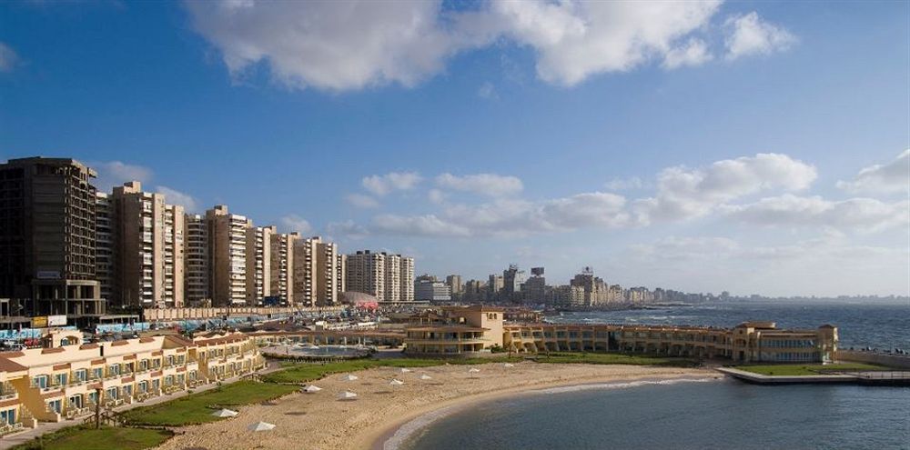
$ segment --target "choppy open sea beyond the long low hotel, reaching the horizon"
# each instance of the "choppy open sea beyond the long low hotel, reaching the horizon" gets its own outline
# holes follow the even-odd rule
[[[552,322],[731,327],[749,320],[770,320],[782,328],[838,327],[842,348],[870,346],[910,350],[910,304],[824,302],[709,303],[690,307],[563,313]]]

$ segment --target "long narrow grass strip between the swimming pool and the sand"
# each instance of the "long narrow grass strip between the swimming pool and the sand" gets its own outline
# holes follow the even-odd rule
[[[325,365],[315,364],[288,364],[287,368],[263,376],[263,381],[268,383],[306,383],[319,380],[328,375],[356,372],[373,367],[430,367],[433,365],[473,365],[486,363],[517,362],[521,358],[508,356],[494,358],[466,358],[466,359],[420,359],[420,358],[383,358],[383,359],[357,359],[341,363]]]

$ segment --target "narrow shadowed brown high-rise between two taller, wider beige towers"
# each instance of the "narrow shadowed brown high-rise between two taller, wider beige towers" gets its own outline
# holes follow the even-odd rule
[[[184,303],[187,306],[210,305],[206,216],[186,215],[184,230]]]

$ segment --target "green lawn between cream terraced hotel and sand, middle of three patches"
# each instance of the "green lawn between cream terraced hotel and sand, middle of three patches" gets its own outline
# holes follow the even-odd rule
[[[140,425],[191,425],[218,420],[212,415],[217,407],[249,405],[294,392],[292,385],[238,381],[199,394],[187,395],[158,405],[126,411],[126,420]]]

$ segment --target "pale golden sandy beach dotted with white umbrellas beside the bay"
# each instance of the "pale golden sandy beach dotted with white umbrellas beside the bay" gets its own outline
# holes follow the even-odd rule
[[[469,373],[471,367],[479,373]],[[421,380],[420,375],[432,379]],[[315,382],[316,394],[295,393],[266,405],[239,409],[237,417],[207,425],[180,428],[159,448],[210,449],[378,449],[400,426],[432,411],[456,409],[502,395],[563,385],[586,385],[680,377],[719,377],[713,371],[641,365],[551,365],[524,362],[502,364],[440,365],[415,368],[402,374],[382,367],[357,372],[359,379],[344,381],[344,374]],[[389,385],[399,379],[405,385]],[[349,390],[356,400],[339,401]],[[258,421],[277,425],[267,432],[250,432]]]

